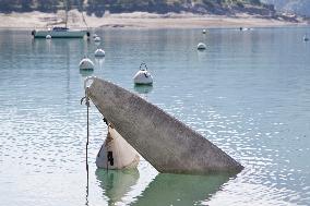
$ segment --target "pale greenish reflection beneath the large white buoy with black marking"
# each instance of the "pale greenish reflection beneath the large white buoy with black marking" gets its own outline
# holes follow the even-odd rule
[[[132,170],[96,170],[98,180],[104,195],[109,198],[108,205],[115,205],[121,202],[121,198],[135,185],[140,177],[138,169]]]

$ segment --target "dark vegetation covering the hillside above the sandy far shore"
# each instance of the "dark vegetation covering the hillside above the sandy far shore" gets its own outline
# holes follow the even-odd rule
[[[273,7],[260,0],[0,0],[0,12],[56,12],[78,9],[88,15],[145,11],[153,13],[192,12],[200,14],[234,15],[238,12],[274,15]]]

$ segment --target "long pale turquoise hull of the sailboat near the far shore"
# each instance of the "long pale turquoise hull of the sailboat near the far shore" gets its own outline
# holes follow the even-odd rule
[[[51,38],[83,38],[87,31],[34,31],[35,38],[46,38],[50,35]]]

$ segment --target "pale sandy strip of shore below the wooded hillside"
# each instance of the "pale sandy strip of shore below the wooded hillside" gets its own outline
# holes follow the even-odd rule
[[[122,28],[208,28],[208,27],[265,27],[303,25],[306,22],[290,23],[279,20],[269,20],[261,16],[238,14],[236,16],[196,15],[191,13],[152,14],[146,12],[105,14],[103,17],[87,16],[88,27],[122,27]],[[58,13],[10,13],[0,14],[0,27],[5,28],[40,28],[63,22],[64,12]],[[70,11],[70,27],[86,27],[82,14]]]

